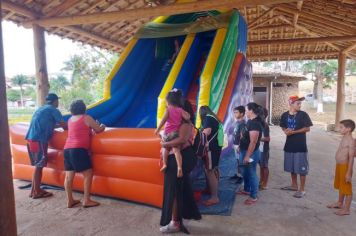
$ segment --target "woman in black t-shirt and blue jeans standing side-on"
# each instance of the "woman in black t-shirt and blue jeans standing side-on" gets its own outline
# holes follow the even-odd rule
[[[239,194],[249,195],[245,204],[252,205],[257,202],[259,181],[256,166],[260,159],[259,145],[262,127],[264,127],[263,108],[256,103],[249,103],[246,106],[246,116],[248,121],[240,140],[240,163],[243,163],[244,189]]]

